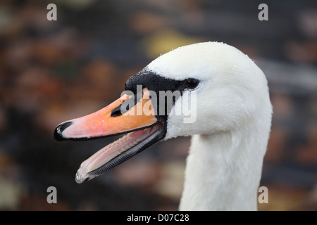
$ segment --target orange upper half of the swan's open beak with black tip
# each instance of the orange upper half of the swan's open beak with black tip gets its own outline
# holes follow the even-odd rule
[[[68,120],[56,127],[54,138],[94,139],[103,136],[125,134],[129,131],[144,129],[157,122],[151,105],[149,91],[145,88],[143,96],[136,104],[134,96],[123,95],[101,110],[73,120]],[[130,102],[128,103],[127,101]],[[130,110],[126,107],[132,105]],[[124,112],[124,113],[123,113]]]

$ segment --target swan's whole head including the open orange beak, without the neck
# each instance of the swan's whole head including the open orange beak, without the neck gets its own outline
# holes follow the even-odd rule
[[[236,131],[254,120],[271,126],[265,75],[234,47],[204,42],[159,56],[128,79],[117,101],[59,124],[54,138],[82,140],[125,134],[82,162],[76,174],[77,183],[82,183],[157,141]]]

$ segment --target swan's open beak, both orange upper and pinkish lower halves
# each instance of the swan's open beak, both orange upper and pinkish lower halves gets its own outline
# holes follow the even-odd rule
[[[135,96],[123,95],[96,113],[68,120],[56,127],[56,141],[125,134],[82,162],[75,176],[77,183],[103,174],[163,139],[166,129],[154,113],[149,90],[144,88],[139,99]]]

